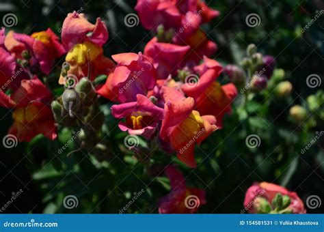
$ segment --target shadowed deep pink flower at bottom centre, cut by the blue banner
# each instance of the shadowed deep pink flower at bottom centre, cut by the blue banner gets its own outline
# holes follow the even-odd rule
[[[167,166],[165,175],[170,179],[172,190],[160,200],[160,214],[193,214],[206,204],[204,190],[187,188],[185,178],[174,166]]]

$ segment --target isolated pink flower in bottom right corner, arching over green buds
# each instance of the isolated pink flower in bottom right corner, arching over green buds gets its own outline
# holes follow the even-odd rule
[[[288,206],[288,209],[291,209],[293,214],[306,214],[303,201],[301,201],[296,192],[290,192],[282,186],[267,182],[256,183],[247,189],[244,207],[248,212],[254,214],[257,212],[258,199],[266,199],[271,204],[271,201],[277,193],[288,196],[291,199],[291,204]]]

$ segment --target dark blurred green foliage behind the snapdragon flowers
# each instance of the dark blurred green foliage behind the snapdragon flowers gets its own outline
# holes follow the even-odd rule
[[[244,109],[234,106],[232,115],[226,117],[224,130],[215,132],[196,151],[198,160],[204,163],[194,171],[179,164],[188,176],[187,185],[206,190],[208,203],[199,212],[238,214],[243,209],[247,188],[262,181],[286,186],[297,192],[304,203],[311,195],[323,201],[324,136],[315,139],[303,154],[302,149],[314,140],[316,132],[323,132],[324,12],[321,10],[324,2],[206,0],[206,3],[221,13],[212,23],[204,25],[208,37],[219,46],[213,58],[224,65],[239,64],[247,45],[254,43],[262,54],[275,57],[277,68],[284,70],[284,79],[293,84],[293,91],[284,98],[275,98],[271,89],[274,86],[269,86]],[[18,23],[12,27],[16,32],[31,34],[51,27],[59,35],[64,18],[73,10],[85,13],[92,23],[101,17],[109,29],[109,42],[104,49],[110,57],[116,53],[138,53],[152,38],[152,33],[140,23],[131,28],[124,25],[126,14],[135,13],[135,4],[135,0],[1,0],[0,18],[16,14]],[[251,13],[260,16],[258,27],[248,27],[245,23]],[[320,16],[304,30],[316,14]],[[59,67],[57,64],[57,78]],[[320,76],[322,84],[315,88],[306,85],[310,74]],[[314,97],[309,99],[310,96]],[[314,102],[316,110],[310,105]],[[307,111],[307,117],[299,122],[289,115],[295,104]],[[0,138],[3,138],[12,124],[11,113],[0,108],[0,119]],[[109,113],[106,121],[108,126],[117,123]],[[260,136],[260,147],[249,149],[245,145],[248,134]],[[57,157],[53,151],[68,141],[68,136],[63,137],[64,134],[59,141],[49,143],[38,136],[14,149],[0,148],[1,203],[8,201],[12,192],[23,190],[5,213],[118,213],[131,194],[142,188],[146,194],[128,212],[157,213],[157,201],[168,192],[164,187],[165,177],[152,181],[154,170],[166,159],[163,152],[154,154],[152,159],[156,161],[147,171],[132,154],[100,163],[92,158],[83,159],[87,155],[80,152],[71,158],[66,154]],[[113,134],[111,141],[118,144],[121,137]],[[62,199],[68,194],[78,197],[77,208],[62,207]],[[324,203],[307,210],[324,213]]]

